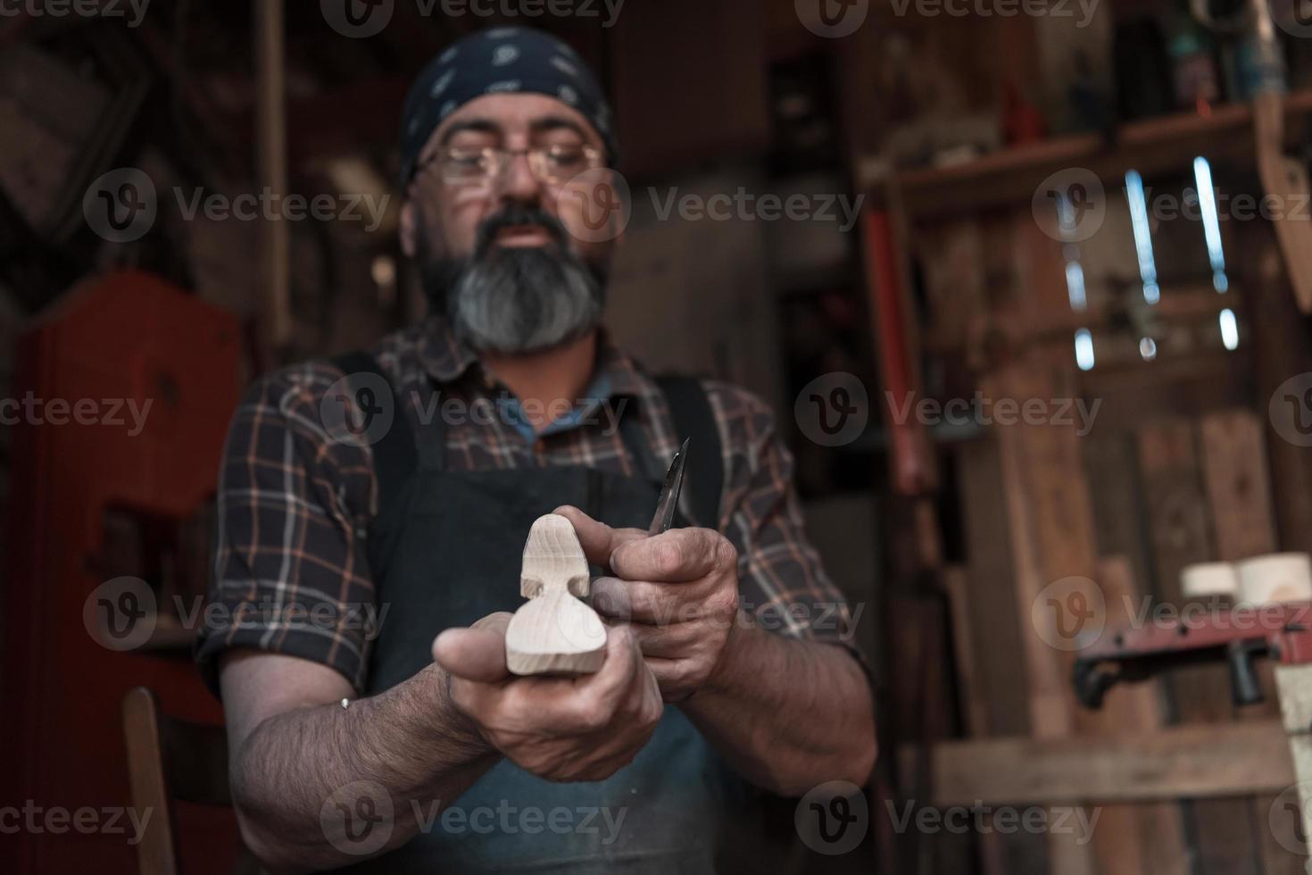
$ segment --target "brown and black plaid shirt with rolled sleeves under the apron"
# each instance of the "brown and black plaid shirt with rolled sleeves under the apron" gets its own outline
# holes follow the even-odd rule
[[[506,409],[509,391],[443,321],[390,335],[371,352],[396,387],[396,415],[416,430],[432,422],[425,417],[443,416],[447,470],[586,466],[638,474],[606,415],[621,404],[634,405],[626,415],[639,417],[655,458],[672,458],[678,445],[656,383],[605,342],[592,397],[575,413],[602,409],[539,436],[496,413]],[[218,657],[232,648],[314,660],[359,690],[386,611],[404,609],[374,597],[365,548],[378,506],[369,442],[342,439],[325,425],[325,399],[331,407],[329,390],[340,390],[342,376],[327,362],[282,369],[260,379],[232,418],[219,474],[211,610],[202,614],[197,649],[215,690]],[[765,628],[855,653],[851,611],[803,531],[792,459],[773,413],[744,390],[714,380],[706,387],[724,457],[718,527],[739,552],[744,613]]]

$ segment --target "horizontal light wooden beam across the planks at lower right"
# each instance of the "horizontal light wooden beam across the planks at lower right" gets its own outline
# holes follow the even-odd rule
[[[918,754],[916,745],[897,752],[904,761]],[[930,745],[930,763],[929,804],[939,808],[1242,796],[1279,792],[1294,783],[1279,720],[1114,736],[942,741]]]

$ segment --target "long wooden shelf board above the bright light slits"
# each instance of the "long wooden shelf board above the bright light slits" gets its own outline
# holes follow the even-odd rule
[[[1286,98],[1286,125],[1291,139],[1299,132],[1295,121],[1312,113],[1312,89]],[[1195,155],[1212,161],[1253,160],[1253,108],[1248,104],[1215,106],[1206,115],[1179,113],[1123,125],[1109,142],[1099,134],[1061,136],[1005,148],[953,167],[900,171],[896,182],[903,206],[912,219],[1019,206],[1034,195],[1039,182],[1065,168],[1081,167],[1105,184],[1120,188],[1127,169],[1140,173],[1189,172]],[[858,168],[858,178],[876,199],[883,199],[891,180],[874,178],[870,164]],[[1256,173],[1256,171],[1254,171]]]

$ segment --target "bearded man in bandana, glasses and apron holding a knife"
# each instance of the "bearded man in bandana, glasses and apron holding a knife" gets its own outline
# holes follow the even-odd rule
[[[243,838],[272,871],[737,868],[766,794],[862,784],[875,758],[773,417],[653,379],[601,328],[615,138],[567,45],[457,42],[401,155],[430,315],[261,379],[228,434],[210,598],[232,619],[198,662]],[[649,537],[684,437],[676,527]],[[602,575],[605,661],[516,677],[523,539],[552,510]]]

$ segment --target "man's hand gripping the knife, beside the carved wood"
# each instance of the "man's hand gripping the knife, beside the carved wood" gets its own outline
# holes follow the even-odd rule
[[[588,560],[615,577],[592,582],[592,606],[628,621],[666,702],[678,702],[715,677],[729,647],[739,607],[737,551],[710,529],[670,529],[648,537],[611,529],[577,508],[569,518]]]

